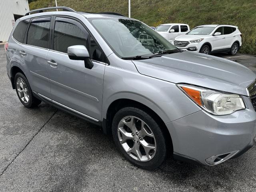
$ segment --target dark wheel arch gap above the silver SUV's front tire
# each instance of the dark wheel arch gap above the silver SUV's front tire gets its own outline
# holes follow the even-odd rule
[[[108,109],[106,111],[106,118],[104,118],[102,126],[104,133],[112,133],[111,129],[114,115],[116,114],[116,112],[118,112],[118,110],[124,107],[137,107],[150,114],[150,116],[152,116],[154,120],[160,124],[160,127],[162,128],[164,135],[166,135],[167,140],[170,141],[170,148],[171,150],[173,150],[172,137],[170,135],[170,132],[168,131],[168,128],[166,127],[166,124],[164,123],[164,120],[162,120],[162,118],[147,105],[128,98],[116,99],[108,106]]]

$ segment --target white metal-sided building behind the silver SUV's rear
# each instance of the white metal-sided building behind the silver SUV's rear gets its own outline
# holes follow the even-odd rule
[[[8,41],[15,21],[29,12],[28,0],[0,0],[0,41]]]

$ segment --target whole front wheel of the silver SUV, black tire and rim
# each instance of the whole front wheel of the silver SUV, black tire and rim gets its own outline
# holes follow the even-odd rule
[[[135,166],[151,170],[166,159],[166,137],[154,118],[143,110],[120,109],[113,118],[112,135],[118,149]]]

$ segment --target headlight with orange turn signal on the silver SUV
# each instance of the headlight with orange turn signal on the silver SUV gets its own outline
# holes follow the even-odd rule
[[[244,102],[240,95],[221,93],[214,90],[177,85],[192,101],[201,108],[215,115],[228,115],[237,110],[245,109]]]

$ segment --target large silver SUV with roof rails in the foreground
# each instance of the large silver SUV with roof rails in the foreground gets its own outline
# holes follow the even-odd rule
[[[24,106],[48,102],[102,126],[140,168],[156,168],[168,154],[212,166],[253,145],[250,69],[180,50],[120,14],[55,8],[63,11],[20,18],[5,45]]]

